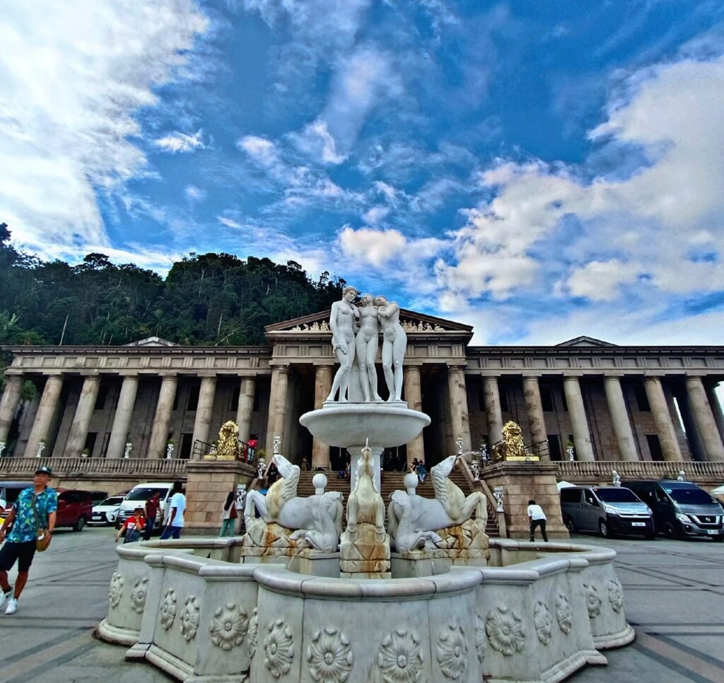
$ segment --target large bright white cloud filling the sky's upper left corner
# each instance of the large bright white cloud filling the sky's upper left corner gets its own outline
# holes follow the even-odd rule
[[[135,112],[158,104],[153,88],[207,25],[190,0],[37,1],[2,13],[0,209],[19,243],[41,255],[107,245],[96,191],[148,174]]]

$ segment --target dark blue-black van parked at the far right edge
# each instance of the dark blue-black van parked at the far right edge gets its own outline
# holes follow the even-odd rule
[[[710,536],[724,540],[724,509],[704,489],[691,482],[626,482],[654,511],[656,528],[670,538]]]

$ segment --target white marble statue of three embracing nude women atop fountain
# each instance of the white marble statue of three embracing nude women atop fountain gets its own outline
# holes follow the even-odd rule
[[[332,350],[340,369],[334,375],[327,401],[382,401],[377,393],[377,372],[374,361],[382,332],[382,369],[390,392],[387,401],[401,401],[403,393],[403,359],[407,335],[400,324],[400,306],[384,296],[365,294],[359,305],[353,287],[345,287],[342,300],[332,304],[329,329]]]

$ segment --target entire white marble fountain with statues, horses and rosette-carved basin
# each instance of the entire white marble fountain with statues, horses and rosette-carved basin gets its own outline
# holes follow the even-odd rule
[[[634,637],[613,550],[489,539],[487,498],[448,478],[458,456],[431,469],[434,499],[408,475],[382,500],[379,453],[429,417],[400,401],[396,305],[365,297],[356,307],[355,296],[345,290],[332,308],[332,395],[300,418],[358,458],[349,499],[325,493],[321,473],[316,493],[298,497],[299,467],[275,453],[282,477],[266,495],[249,492],[243,537],[118,548],[99,636],[199,683],[555,682],[605,664],[601,650]],[[378,325],[390,401],[371,380]],[[367,372],[355,352],[359,365],[371,358]]]

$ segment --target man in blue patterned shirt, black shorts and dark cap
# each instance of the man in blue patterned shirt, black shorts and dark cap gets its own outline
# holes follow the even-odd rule
[[[17,599],[28,582],[28,571],[35,555],[35,536],[38,529],[48,529],[52,534],[55,528],[58,494],[48,487],[53,473],[49,467],[38,467],[33,477],[33,486],[23,489],[18,495],[9,514],[0,527],[0,609],[5,607],[6,614],[17,612]],[[35,510],[33,510],[35,507]],[[36,512],[37,511],[37,515]],[[38,524],[39,522],[39,524]],[[12,524],[12,530],[7,529]],[[7,535],[7,540],[6,540]],[[7,573],[17,562],[17,579],[13,591],[7,581]]]

